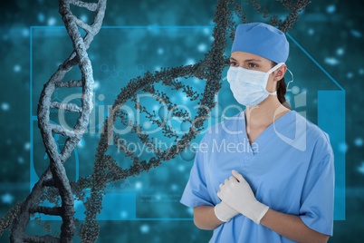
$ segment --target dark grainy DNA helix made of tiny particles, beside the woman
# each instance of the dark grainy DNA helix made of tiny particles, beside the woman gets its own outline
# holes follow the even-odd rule
[[[286,32],[292,28],[292,25],[297,21],[298,13],[304,9],[306,5],[310,3],[307,0],[299,0],[296,4],[292,1],[278,0],[287,9],[292,10],[290,15],[286,17],[284,21],[279,20],[277,16],[270,17],[270,24],[277,25],[279,28]],[[263,13],[263,17],[269,17],[267,10],[262,9],[258,1],[250,1],[254,5],[254,9],[259,13]],[[112,105],[112,109],[109,111],[109,118],[104,121],[103,131],[101,133],[101,139],[97,148],[96,161],[93,167],[92,183],[91,183],[91,196],[84,203],[86,208],[85,224],[81,226],[80,236],[82,242],[95,242],[99,235],[99,225],[97,223],[97,214],[102,209],[102,198],[106,194],[106,185],[118,180],[125,180],[131,176],[139,175],[142,171],[148,171],[152,168],[158,167],[162,161],[167,161],[175,158],[177,154],[184,151],[189,145],[190,141],[196,138],[196,134],[202,130],[204,121],[209,116],[209,112],[214,108],[214,98],[216,93],[222,87],[221,79],[222,72],[226,65],[228,65],[228,59],[225,57],[225,47],[227,35],[230,31],[230,38],[233,39],[235,33],[235,22],[233,21],[233,11],[229,9],[229,5],[234,5],[235,13],[239,16],[242,22],[245,22],[246,15],[244,8],[241,5],[236,5],[234,0],[220,0],[216,5],[216,13],[214,17],[213,37],[214,42],[211,44],[211,49],[205,55],[205,59],[199,63],[185,66],[178,66],[173,68],[163,68],[154,74],[145,73],[143,77],[132,79],[129,83],[121,89],[120,94]],[[199,96],[192,87],[184,85],[178,82],[178,78],[190,78],[196,77],[198,79],[206,80],[204,92],[201,93],[202,98],[199,100],[198,110],[196,116],[191,119],[183,111],[178,110],[176,104],[170,102],[166,93],[159,92],[154,84],[162,83],[164,86],[170,86],[172,90],[182,89],[186,93],[186,96],[191,100],[196,100]],[[147,108],[142,106],[138,101],[136,93],[139,91],[149,92],[158,102],[163,102],[168,107],[168,111],[173,111],[173,115],[179,118],[183,118],[184,121],[190,123],[190,128],[181,138],[179,138],[172,127],[169,127],[162,121],[155,119],[153,112],[148,112]],[[149,137],[147,132],[143,132],[140,129],[140,124],[127,124],[128,114],[120,112],[120,108],[128,101],[135,102],[135,108],[141,112],[145,112],[147,117],[152,123],[158,124],[163,128],[164,136],[172,138],[176,141],[176,144],[172,145],[165,151],[158,148],[153,148],[154,157],[148,160],[141,160],[138,156],[131,151],[128,151],[128,141],[122,144],[124,148],[125,156],[132,160],[132,164],[129,168],[122,168],[118,165],[118,162],[108,154],[110,144],[112,140],[114,142],[120,139],[119,134],[113,134],[112,128],[114,127],[117,118],[121,120],[124,125],[132,127],[132,131],[137,133],[139,141],[143,143],[152,143],[153,139]],[[119,146],[120,144],[118,144]],[[81,181],[81,180],[80,180]],[[89,184],[87,180],[83,180],[83,185]],[[80,193],[80,192],[79,192]]]

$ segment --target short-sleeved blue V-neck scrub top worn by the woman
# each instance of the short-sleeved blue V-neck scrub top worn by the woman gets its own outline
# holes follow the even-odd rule
[[[231,170],[241,173],[257,200],[300,216],[304,224],[332,235],[333,152],[328,135],[297,112],[283,114],[250,144],[244,112],[211,127],[199,143],[181,203],[215,206],[219,185]],[[210,242],[293,242],[239,214],[214,229]]]

